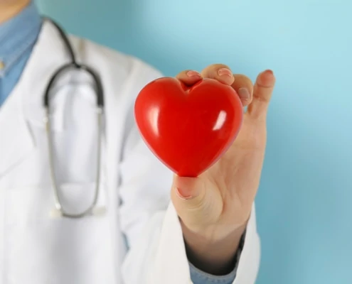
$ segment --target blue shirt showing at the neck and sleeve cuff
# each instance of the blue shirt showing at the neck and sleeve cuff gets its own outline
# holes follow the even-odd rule
[[[40,33],[41,23],[38,9],[32,2],[17,16],[0,24],[0,107],[21,78]],[[194,284],[231,284],[235,271],[236,268],[228,275],[215,276],[198,270],[190,263]]]

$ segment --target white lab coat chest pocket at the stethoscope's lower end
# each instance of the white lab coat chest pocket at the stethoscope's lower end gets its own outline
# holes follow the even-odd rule
[[[60,187],[63,206],[78,212],[90,206],[95,184]],[[105,206],[105,189],[98,201]],[[52,218],[50,187],[16,188],[6,194],[7,283],[110,283],[111,226],[108,215]]]

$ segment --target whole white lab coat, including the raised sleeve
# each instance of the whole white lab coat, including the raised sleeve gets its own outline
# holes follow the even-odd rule
[[[42,100],[50,76],[69,58],[56,29],[44,23],[21,80],[0,109],[0,283],[191,283],[169,198],[172,174],[134,124],[135,97],[161,74],[136,58],[70,40],[80,62],[100,72],[105,89],[99,205],[107,211],[83,219],[49,215],[54,200]],[[76,212],[90,204],[95,185],[90,77],[63,76],[51,104],[58,184],[65,207]],[[253,209],[235,284],[255,283],[259,258]]]

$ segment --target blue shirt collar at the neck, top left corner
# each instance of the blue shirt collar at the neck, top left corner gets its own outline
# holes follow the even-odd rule
[[[41,23],[41,15],[31,1],[21,13],[0,24],[0,62],[3,65],[0,68],[0,77],[36,43]]]

